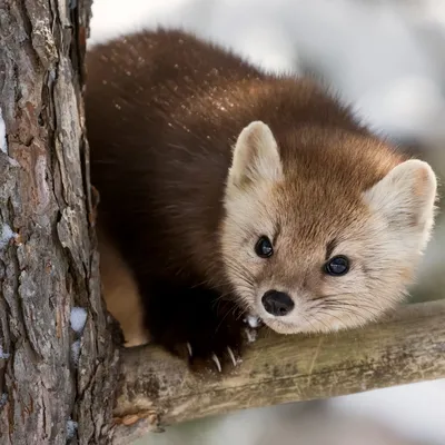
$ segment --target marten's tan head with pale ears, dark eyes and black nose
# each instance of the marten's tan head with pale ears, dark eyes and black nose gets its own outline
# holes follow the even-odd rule
[[[376,319],[413,281],[434,219],[436,177],[376,139],[303,128],[239,135],[221,250],[244,308],[283,333]]]

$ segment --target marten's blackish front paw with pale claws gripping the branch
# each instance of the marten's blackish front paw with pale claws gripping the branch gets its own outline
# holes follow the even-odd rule
[[[157,286],[147,305],[147,325],[154,343],[184,357],[194,370],[233,369],[240,363],[246,322],[231,301],[211,290]],[[167,305],[167,301],[170,304]]]

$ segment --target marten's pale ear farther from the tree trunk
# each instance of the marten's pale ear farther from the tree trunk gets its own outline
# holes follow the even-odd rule
[[[397,237],[419,236],[423,249],[433,228],[436,191],[436,176],[429,165],[409,159],[365,191],[365,201],[384,216]]]

